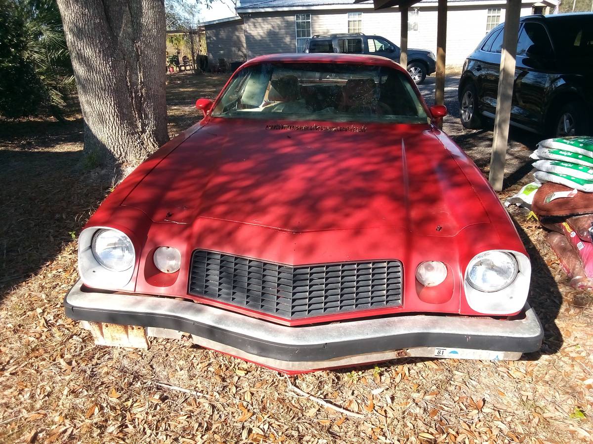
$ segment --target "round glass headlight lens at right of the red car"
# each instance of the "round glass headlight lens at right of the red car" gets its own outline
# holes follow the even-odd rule
[[[517,259],[509,253],[483,252],[467,266],[467,282],[479,291],[499,291],[512,284],[518,269]]]

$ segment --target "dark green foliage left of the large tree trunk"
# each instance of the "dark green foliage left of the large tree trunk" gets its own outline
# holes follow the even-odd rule
[[[0,0],[0,116],[61,119],[74,88],[55,0]]]

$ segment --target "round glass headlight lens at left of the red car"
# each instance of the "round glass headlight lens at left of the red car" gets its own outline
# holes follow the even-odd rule
[[[97,262],[110,271],[126,271],[134,265],[134,246],[121,231],[98,230],[93,236],[91,249]]]

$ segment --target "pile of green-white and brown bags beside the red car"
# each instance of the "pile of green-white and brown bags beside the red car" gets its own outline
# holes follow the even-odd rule
[[[526,185],[509,201],[550,230],[547,241],[570,285],[593,289],[593,137],[543,140],[531,157],[541,186]]]

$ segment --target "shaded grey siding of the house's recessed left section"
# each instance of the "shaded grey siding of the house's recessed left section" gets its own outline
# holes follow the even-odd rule
[[[245,32],[242,21],[218,23],[205,27],[209,63],[225,59],[227,63],[247,60]]]

